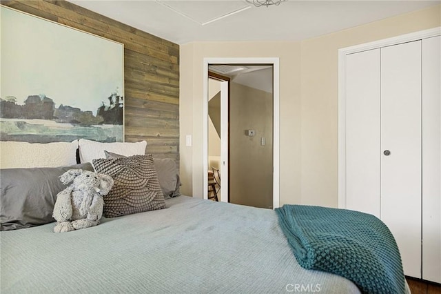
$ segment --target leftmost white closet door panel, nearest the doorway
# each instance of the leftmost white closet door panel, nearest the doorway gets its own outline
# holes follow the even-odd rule
[[[346,208],[380,218],[380,49],[346,66]]]

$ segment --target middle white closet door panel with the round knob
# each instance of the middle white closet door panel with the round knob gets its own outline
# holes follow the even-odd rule
[[[381,48],[380,112],[380,215],[396,238],[404,273],[420,277],[421,41]]]

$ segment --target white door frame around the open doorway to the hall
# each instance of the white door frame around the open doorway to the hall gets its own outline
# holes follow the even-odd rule
[[[273,66],[273,209],[280,206],[280,59],[278,57],[205,57],[203,59],[203,199],[208,198],[208,65]]]

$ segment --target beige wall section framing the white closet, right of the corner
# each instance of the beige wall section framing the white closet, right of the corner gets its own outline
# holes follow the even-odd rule
[[[338,49],[441,26],[441,6],[302,41],[301,204],[338,206]]]

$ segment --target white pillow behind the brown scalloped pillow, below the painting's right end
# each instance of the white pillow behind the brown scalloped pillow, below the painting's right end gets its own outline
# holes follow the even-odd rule
[[[136,143],[101,143],[97,141],[79,139],[80,161],[83,164],[85,162],[92,162],[92,159],[105,158],[104,150],[124,156],[145,155],[145,146],[147,146],[146,141]]]

